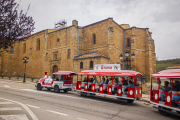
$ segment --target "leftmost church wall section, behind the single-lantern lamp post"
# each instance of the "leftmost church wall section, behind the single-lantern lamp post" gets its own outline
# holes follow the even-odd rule
[[[25,64],[22,62],[22,59],[27,56],[29,62],[26,64],[26,76],[41,77],[41,72],[37,71],[43,70],[44,35],[45,31],[41,31],[25,38],[21,42],[15,42],[13,54],[4,51],[1,57],[2,75],[23,76]],[[36,50],[37,39],[40,39],[40,50]],[[26,45],[25,50],[24,44]]]

